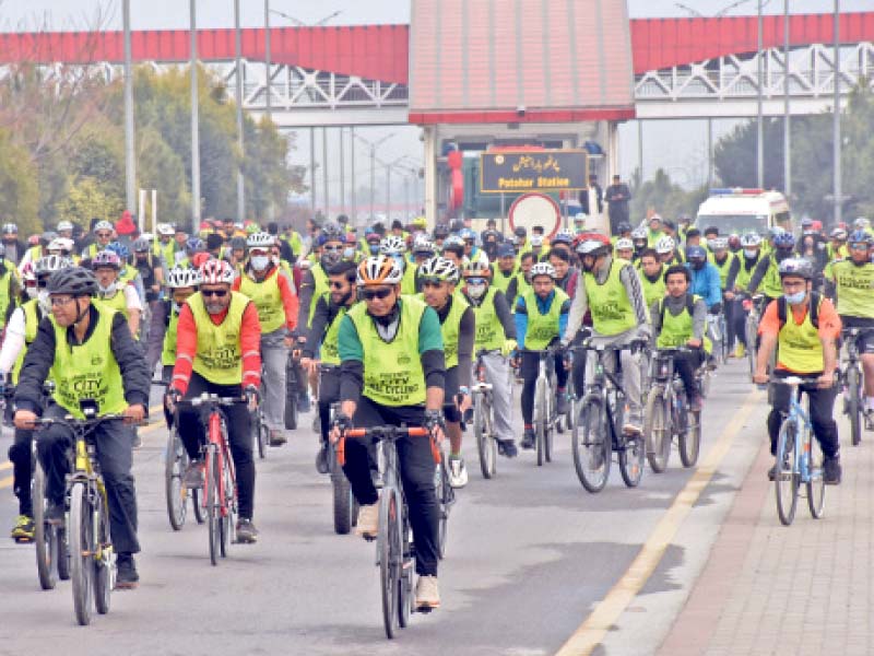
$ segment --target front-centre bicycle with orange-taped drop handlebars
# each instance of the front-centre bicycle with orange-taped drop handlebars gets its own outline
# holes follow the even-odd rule
[[[349,429],[336,444],[340,467],[345,464],[346,438],[367,440],[377,445],[380,453],[382,492],[379,500],[376,553],[382,596],[382,623],[389,639],[397,635],[398,628],[408,626],[411,612],[430,612],[429,608],[415,608],[413,599],[415,544],[412,540],[395,446],[398,440],[406,436],[430,438],[428,431],[423,427],[374,426]],[[439,462],[440,452],[434,442],[432,453],[434,461]]]

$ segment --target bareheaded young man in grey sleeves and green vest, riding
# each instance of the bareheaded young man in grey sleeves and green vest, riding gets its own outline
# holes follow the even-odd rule
[[[673,265],[664,273],[668,294],[650,306],[656,345],[660,349],[688,347],[693,353],[674,355],[674,368],[683,379],[689,410],[701,410],[701,395],[695,382],[695,371],[701,366],[705,351],[709,350],[707,304],[704,298],[689,293],[692,276],[682,265]]]

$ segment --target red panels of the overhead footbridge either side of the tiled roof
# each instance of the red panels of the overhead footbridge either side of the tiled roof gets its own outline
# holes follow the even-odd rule
[[[794,15],[790,22],[792,46],[832,40],[831,14]],[[634,19],[630,32],[635,74],[756,50],[755,16]],[[840,36],[845,44],[874,42],[874,11],[841,14]],[[406,84],[409,39],[408,25],[274,27],[271,59],[305,69]],[[782,16],[765,16],[763,42],[766,48],[782,46]],[[189,32],[134,32],[132,49],[134,61],[186,61],[190,52]],[[199,31],[198,54],[202,60],[233,59],[234,31]],[[243,56],[249,60],[264,59],[264,30],[243,30]],[[0,63],[120,62],[122,58],[120,32],[0,34]]]

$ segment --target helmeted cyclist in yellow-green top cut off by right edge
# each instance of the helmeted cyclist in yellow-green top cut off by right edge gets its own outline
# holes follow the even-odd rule
[[[838,314],[846,328],[871,329],[858,339],[860,360],[865,374],[864,412],[867,423],[874,419],[874,263],[871,262],[874,238],[862,230],[853,231],[848,247],[850,258],[831,267],[838,297]]]

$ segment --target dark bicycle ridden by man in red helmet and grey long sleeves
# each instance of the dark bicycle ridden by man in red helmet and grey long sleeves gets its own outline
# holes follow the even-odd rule
[[[601,492],[610,478],[613,452],[616,452],[619,473],[628,488],[640,484],[643,476],[645,444],[642,435],[625,434],[622,431],[625,413],[625,390],[622,386],[622,365],[619,352],[627,347],[612,348],[591,345],[583,348],[594,354],[594,372],[587,385],[586,395],[580,402],[579,414],[571,422],[574,467],[577,477],[587,492]],[[631,351],[637,344],[630,345]],[[604,355],[615,352],[616,372],[610,373],[604,366]]]

